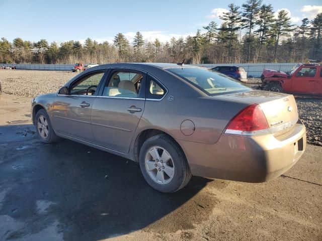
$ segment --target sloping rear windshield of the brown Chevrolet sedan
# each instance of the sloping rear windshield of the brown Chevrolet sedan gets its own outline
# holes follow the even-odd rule
[[[169,68],[168,71],[183,77],[208,95],[251,90],[236,80],[204,68]]]

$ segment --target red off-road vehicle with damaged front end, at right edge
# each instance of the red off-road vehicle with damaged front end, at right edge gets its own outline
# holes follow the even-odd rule
[[[297,64],[287,72],[264,69],[261,79],[263,90],[322,95],[320,64]]]

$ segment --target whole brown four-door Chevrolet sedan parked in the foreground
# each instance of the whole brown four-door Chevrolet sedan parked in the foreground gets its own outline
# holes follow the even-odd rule
[[[265,182],[305,150],[293,95],[252,90],[182,64],[99,65],[32,100],[39,138],[70,139],[139,162],[160,192],[192,175]]]

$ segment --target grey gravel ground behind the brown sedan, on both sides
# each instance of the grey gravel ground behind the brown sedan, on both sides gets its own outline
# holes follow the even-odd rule
[[[55,92],[77,73],[67,71],[0,70],[5,93],[34,97]],[[256,88],[260,78],[249,78],[247,85]],[[322,98],[296,96],[299,116],[307,128],[307,142],[322,146]]]

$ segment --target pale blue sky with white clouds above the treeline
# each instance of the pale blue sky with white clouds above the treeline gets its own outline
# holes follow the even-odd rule
[[[90,37],[98,42],[112,41],[123,33],[131,41],[135,32],[146,40],[193,35],[211,21],[220,24],[227,5],[241,6],[246,1],[6,1],[0,0],[0,38],[58,43],[68,40],[84,42]],[[304,17],[311,19],[322,12],[320,0],[264,0],[275,11],[287,9],[294,24]]]

